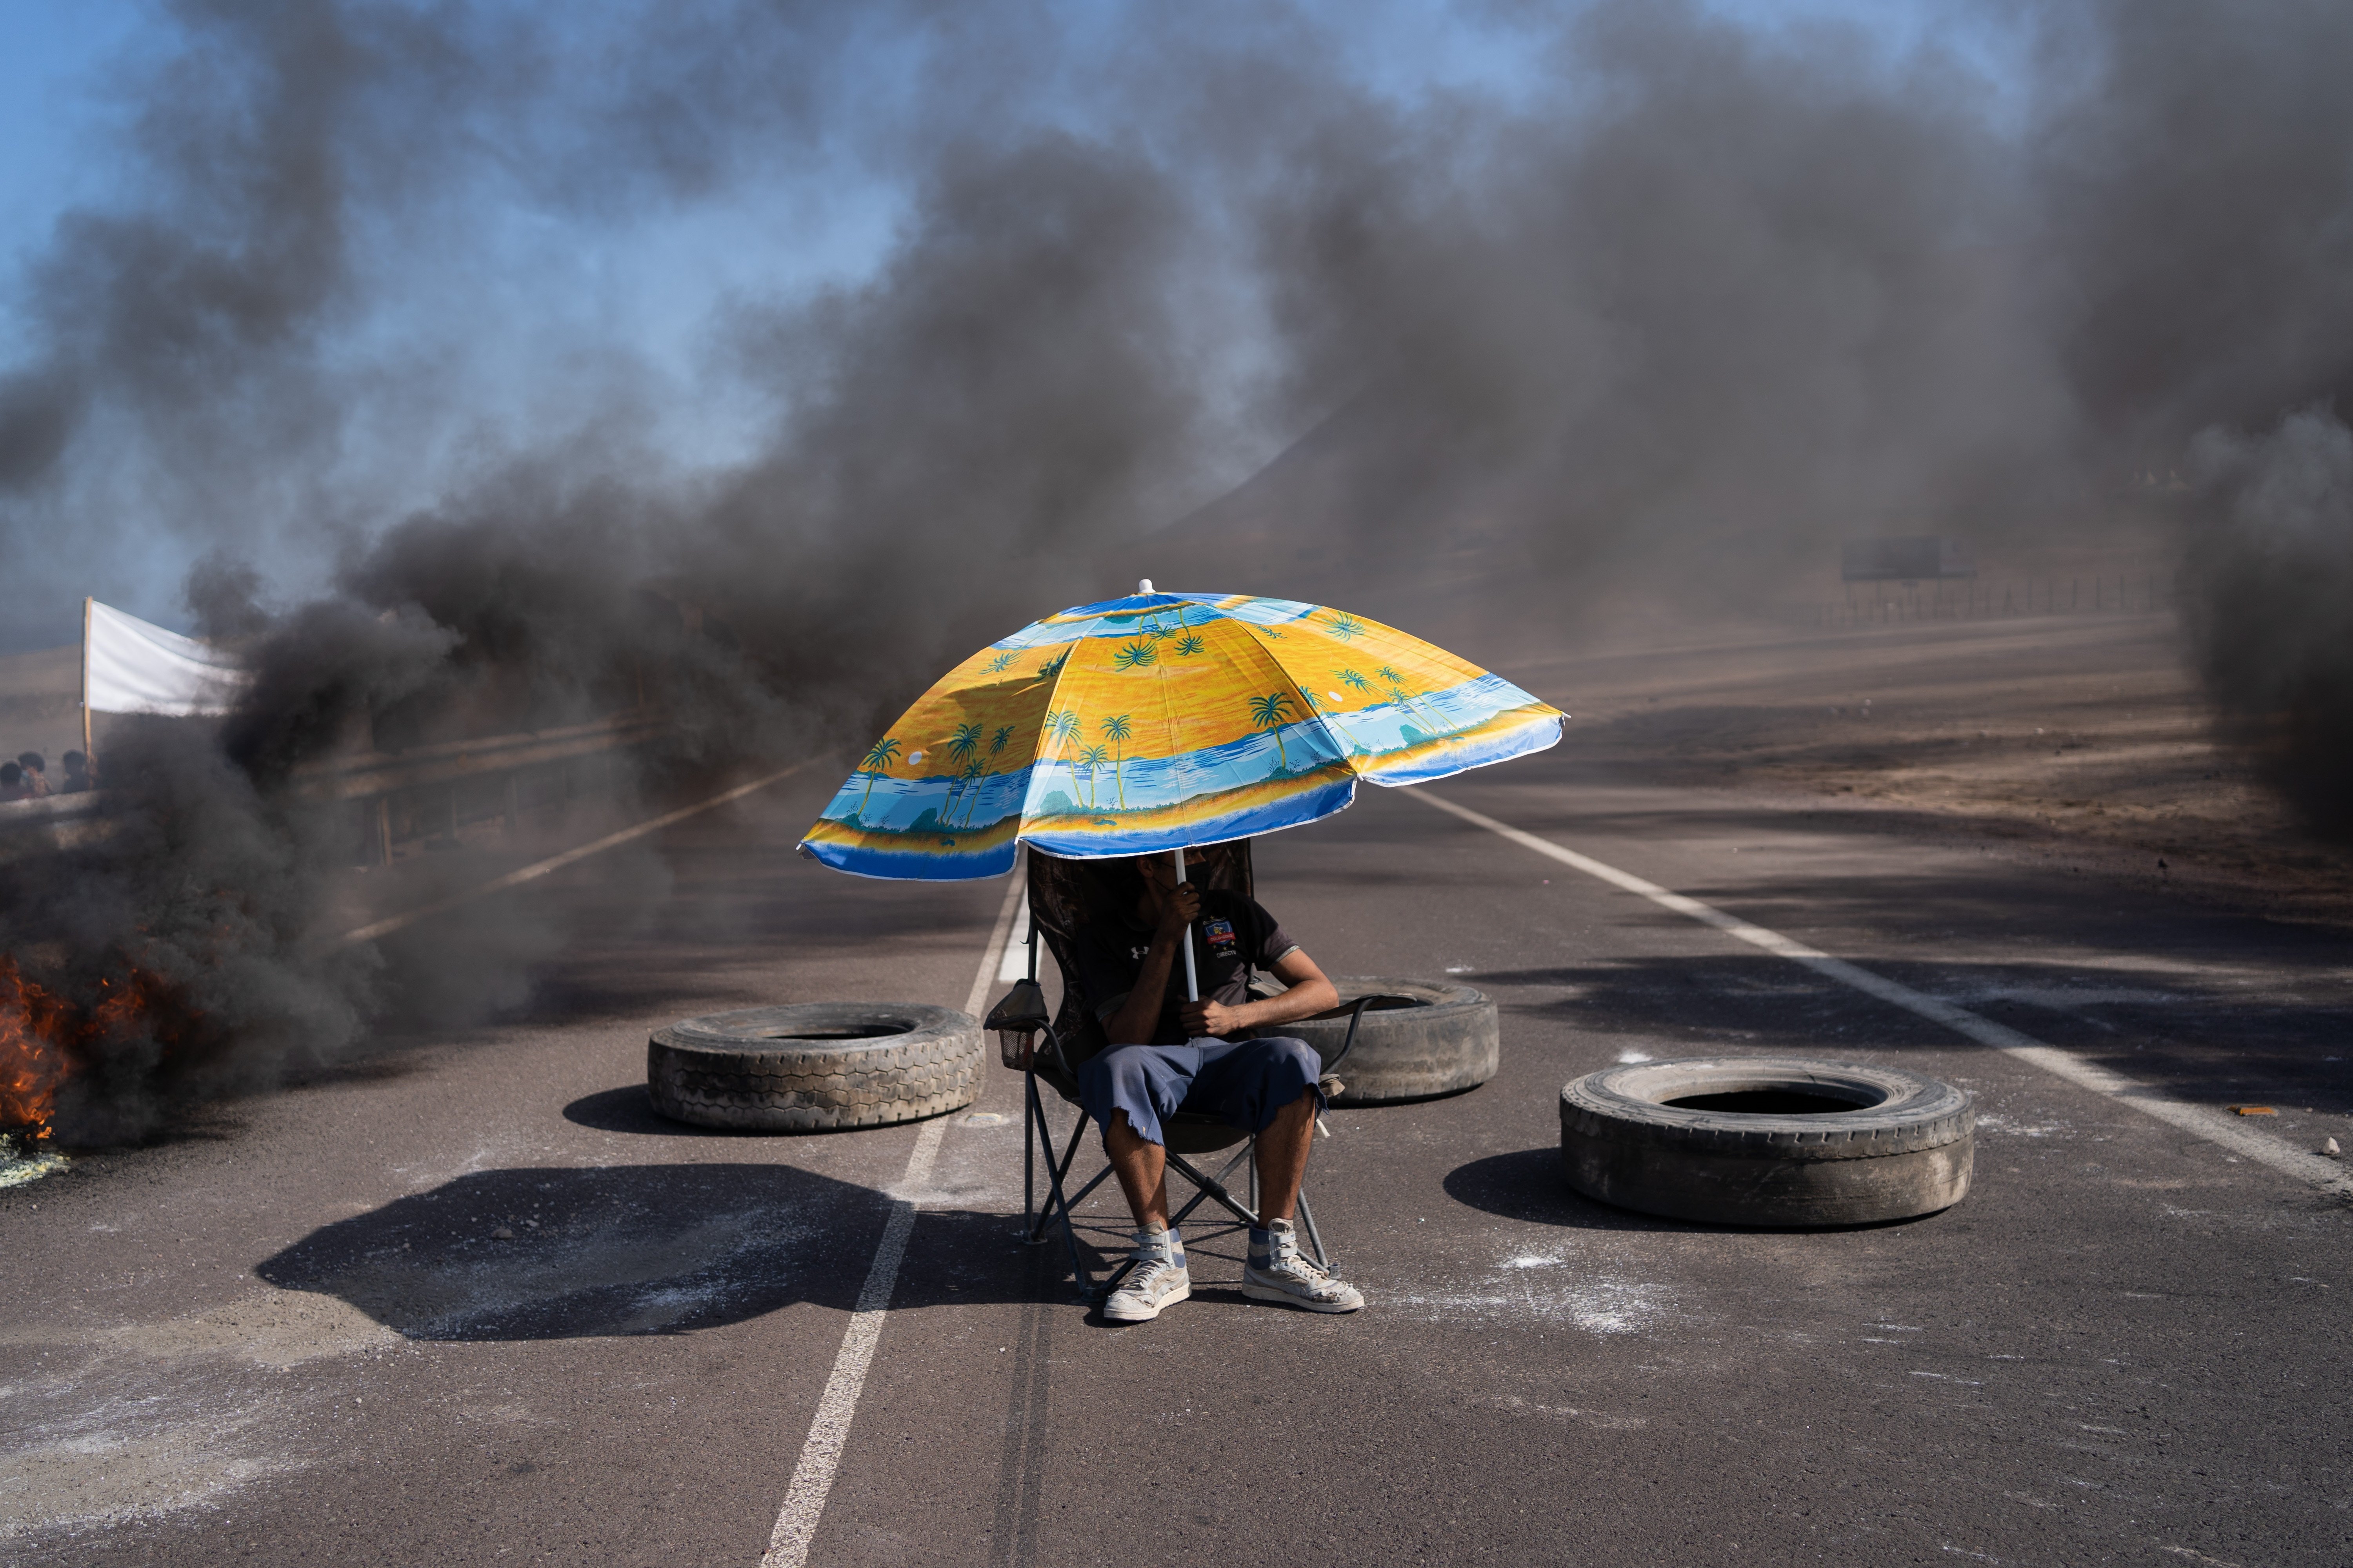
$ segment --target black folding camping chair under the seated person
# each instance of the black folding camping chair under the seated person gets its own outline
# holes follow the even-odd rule
[[[1078,1251],[1078,1227],[1073,1222],[1073,1213],[1096,1187],[1104,1185],[1104,1180],[1111,1178],[1111,1164],[1096,1171],[1094,1178],[1078,1192],[1066,1192],[1071,1164],[1078,1159],[1078,1145],[1087,1135],[1087,1112],[1085,1107],[1078,1110],[1078,1124],[1071,1128],[1071,1138],[1064,1143],[1061,1157],[1056,1159],[1056,1138],[1052,1124],[1047,1121],[1045,1098],[1038,1093],[1038,1084],[1045,1081],[1068,1105],[1078,1107],[1078,1065],[1111,1048],[1111,1041],[1104,1037],[1104,1025],[1094,1011],[1099,999],[1087,994],[1078,976],[1078,929],[1087,922],[1118,919],[1118,900],[1134,900],[1134,877],[1125,860],[1064,860],[1040,853],[1035,846],[1024,853],[1028,860],[1031,912],[1028,978],[1014,983],[1014,990],[988,1011],[988,1023],[984,1027],[995,1030],[1005,1065],[1019,1067],[1024,1074],[1024,1237],[1031,1246],[1040,1246],[1047,1239],[1047,1227],[1059,1222],[1064,1244],[1071,1248],[1071,1276],[1078,1281],[1080,1295],[1087,1300],[1104,1300],[1120,1286],[1120,1279],[1127,1276],[1134,1260],[1122,1260],[1101,1284],[1092,1284],[1092,1274]],[[1249,870],[1249,839],[1188,851],[1186,879],[1205,891],[1226,891],[1249,898],[1254,886]],[[1047,1018],[1045,990],[1038,985],[1040,938],[1052,950],[1056,969],[1061,969],[1061,1009],[1052,1018]],[[1193,966],[1188,964],[1186,971],[1191,973],[1191,969]],[[1252,976],[1252,980],[1257,978]],[[1348,1018],[1346,1039],[1320,1070],[1325,1095],[1341,1091],[1334,1074],[1348,1058],[1348,1051],[1355,1048],[1355,1025],[1369,1001],[1372,997],[1360,997],[1344,1009],[1318,1013],[1320,1018]],[[1040,1034],[1045,1037],[1042,1046],[1038,1044]],[[1254,1133],[1231,1128],[1217,1117],[1186,1110],[1179,1110],[1174,1117],[1165,1117],[1160,1131],[1167,1150],[1167,1168],[1195,1187],[1184,1208],[1169,1215],[1172,1227],[1184,1225],[1186,1215],[1205,1201],[1217,1204],[1242,1225],[1259,1222],[1259,1166],[1254,1159],[1259,1140]],[[1045,1147],[1047,1178],[1047,1201],[1042,1208],[1038,1204],[1040,1145]],[[1240,1145],[1240,1150],[1235,1150],[1217,1175],[1209,1175],[1191,1159],[1221,1154],[1235,1145]],[[1247,1201],[1238,1199],[1226,1187],[1226,1180],[1240,1164],[1249,1166]],[[1315,1251],[1315,1262],[1332,1267],[1332,1260],[1325,1255],[1322,1234],[1315,1229],[1315,1211],[1308,1206],[1306,1187],[1299,1190],[1299,1220],[1308,1234],[1308,1246]]]

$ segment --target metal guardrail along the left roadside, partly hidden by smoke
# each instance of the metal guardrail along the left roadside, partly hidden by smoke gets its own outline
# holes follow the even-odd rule
[[[525,729],[473,741],[442,741],[400,752],[351,752],[294,769],[294,788],[320,802],[372,802],[372,820],[360,825],[360,832],[369,844],[369,858],[391,863],[395,842],[393,799],[400,795],[445,790],[447,799],[438,818],[454,835],[464,816],[459,785],[504,776],[492,816],[506,816],[508,825],[513,825],[525,809],[518,780],[527,771],[642,745],[666,729],[668,719],[661,715],[633,710],[560,729]],[[113,806],[113,790],[0,802],[0,865],[104,842],[115,830]]]

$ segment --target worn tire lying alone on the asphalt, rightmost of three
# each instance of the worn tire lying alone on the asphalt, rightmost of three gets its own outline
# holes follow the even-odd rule
[[[1899,1067],[1697,1058],[1560,1091],[1560,1154],[1591,1199],[1675,1220],[1833,1227],[1908,1220],[1969,1192],[1967,1093]]]

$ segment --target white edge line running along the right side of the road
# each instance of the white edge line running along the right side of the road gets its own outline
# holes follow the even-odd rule
[[[1671,893],[1657,882],[1645,882],[1642,877],[1635,877],[1633,872],[1621,872],[1619,867],[1605,865],[1593,856],[1581,856],[1574,849],[1562,849],[1560,844],[1553,844],[1551,839],[1539,839],[1537,835],[1522,832],[1511,823],[1499,823],[1492,816],[1471,811],[1468,806],[1457,806],[1449,799],[1438,799],[1428,790],[1400,790],[1400,795],[1419,799],[1428,806],[1438,806],[1440,811],[1459,816],[1461,820],[1473,823],[1475,827],[1485,827],[1497,837],[1511,839],[1520,849],[1532,849],[1539,856],[1560,860],[1562,865],[1581,870],[1588,877],[1598,877],[1609,886],[1638,893],[1640,898],[1647,898],[1659,907],[1673,910],[1675,914],[1687,914],[1701,924],[1715,926],[1725,936],[1737,936],[1751,947],[1762,947],[1774,957],[1791,959],[1793,964],[1805,964],[1819,976],[1828,976],[1840,985],[1852,985],[1854,990],[1868,997],[1878,997],[1889,1006],[1899,1006],[1906,1013],[1915,1013],[1920,1018],[1927,1018],[1929,1023],[1941,1023],[1955,1034],[1965,1034],[1981,1046],[1993,1046],[2002,1056],[2014,1056],[2021,1063],[2028,1063],[2033,1067],[2040,1067],[2042,1072],[2066,1079],[2068,1084],[2089,1088],[2092,1093],[2108,1095],[2111,1100],[2122,1100],[2132,1110],[2155,1117],[2158,1121],[2169,1121],[2172,1126],[2179,1126],[2184,1133],[2191,1133],[2193,1138],[2205,1138],[2212,1145],[2231,1150],[2233,1154],[2242,1154],[2257,1164],[2271,1166],[2282,1175],[2311,1182],[2325,1192],[2334,1192],[2339,1197],[2353,1197],[2353,1178],[2346,1178],[2344,1168],[2337,1166],[2337,1161],[2322,1159],[2320,1154],[2306,1154],[2304,1150],[2289,1150],[2287,1145],[2266,1138],[2254,1128],[2240,1126],[2233,1117],[2224,1112],[2207,1110],[2205,1105],[2184,1105],[2181,1100],[2169,1100],[2148,1088],[2146,1084],[2134,1084],[2132,1079],[2118,1072],[2108,1072],[2097,1063],[2068,1056],[2057,1046],[2045,1046],[2040,1039],[2033,1039],[2031,1034],[2019,1034],[2007,1025],[1993,1023],[1991,1018],[1979,1018],[1977,1013],[1953,1006],[1951,1001],[1929,997],[1925,992],[1915,992],[1908,985],[1897,985],[1894,980],[1875,976],[1868,969],[1859,969],[1845,959],[1833,959],[1828,952],[1819,952],[1814,947],[1807,947],[1805,943],[1793,943],[1779,931],[1767,931],[1765,926],[1751,926],[1746,919],[1739,919],[1737,914],[1725,914],[1722,910],[1704,905],[1697,898]]]

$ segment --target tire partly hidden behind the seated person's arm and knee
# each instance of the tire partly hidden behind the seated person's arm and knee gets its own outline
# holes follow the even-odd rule
[[[1384,976],[1334,978],[1341,1009],[1372,997],[1355,1032],[1355,1048],[1339,1065],[1346,1088],[1334,1105],[1395,1105],[1478,1088],[1494,1077],[1499,1034],[1494,1001],[1452,980]],[[1329,1063],[1348,1037],[1348,1016],[1325,1013],[1268,1030],[1315,1046]]]

